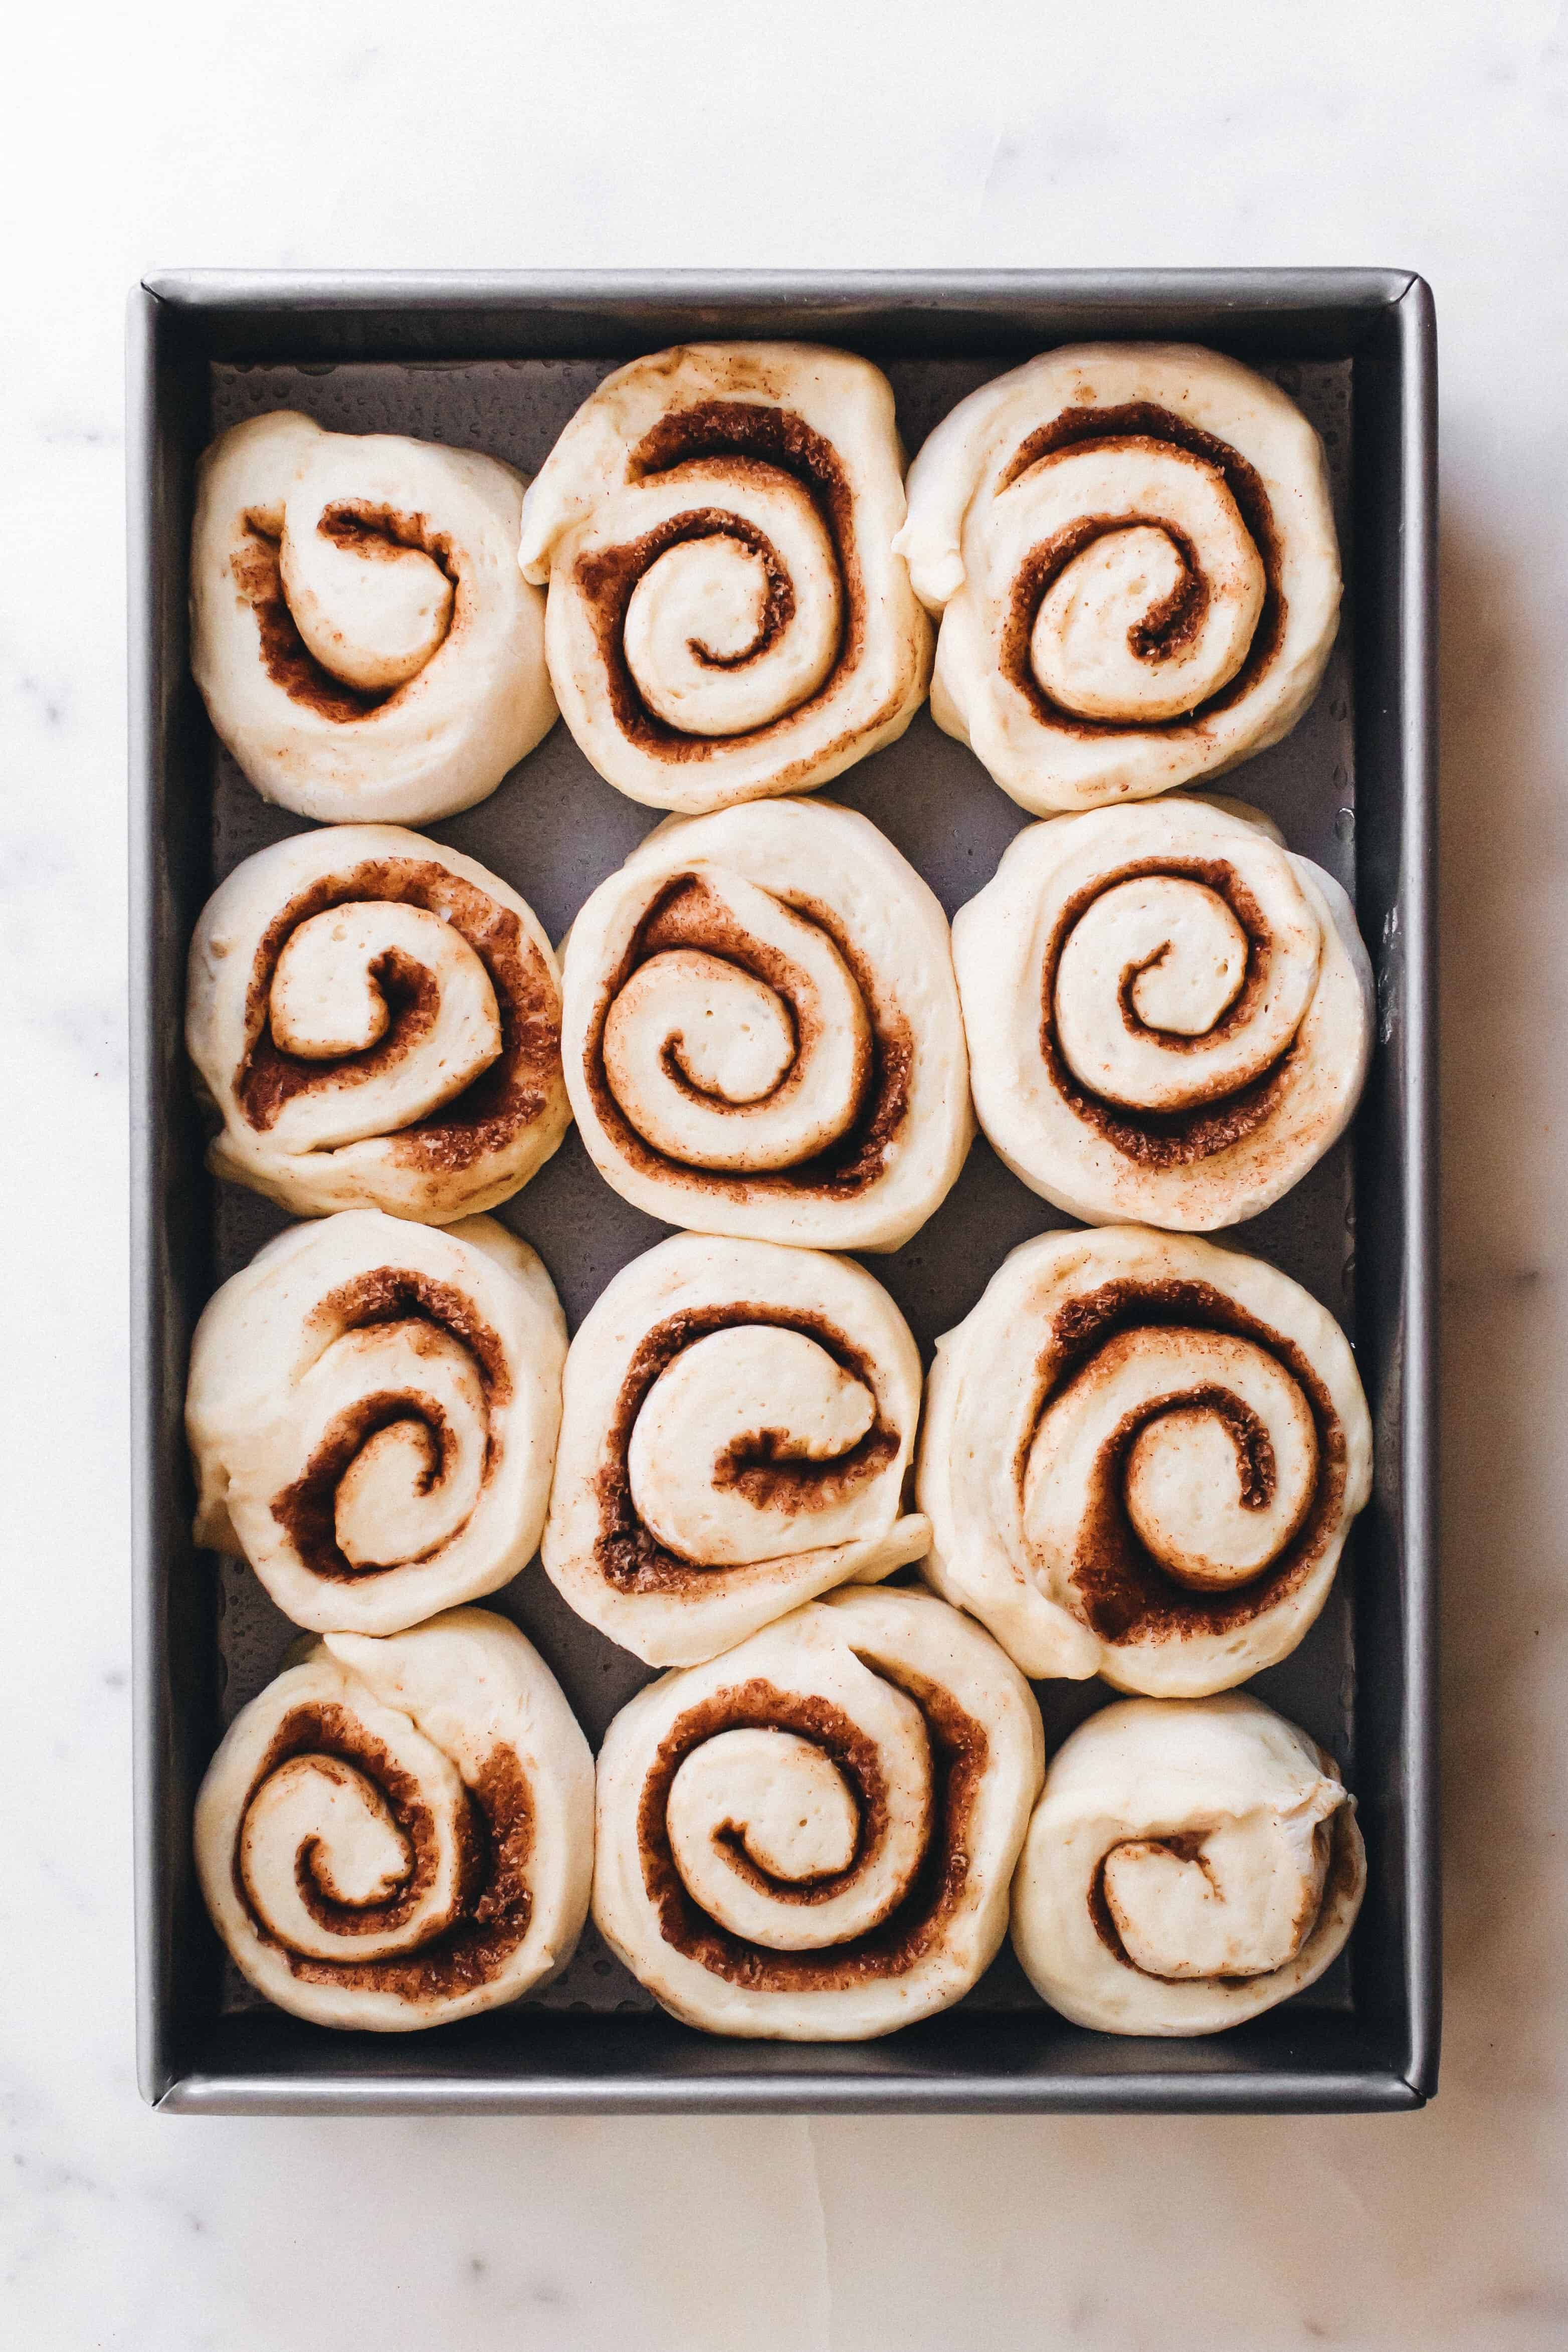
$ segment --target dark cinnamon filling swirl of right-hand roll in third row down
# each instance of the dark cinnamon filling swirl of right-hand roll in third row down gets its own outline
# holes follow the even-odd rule
[[[1147,1428],[1152,1418],[1173,1404],[1204,1404],[1215,1392],[1204,1383],[1187,1397],[1166,1397],[1143,1414],[1128,1416],[1105,1442],[1095,1461],[1091,1505],[1072,1562],[1077,1606],[1084,1623],[1103,1642],[1182,1642],[1251,1625],[1295,1592],[1321,1559],[1324,1548],[1340,1524],[1347,1470],[1345,1430],[1328,1388],[1295,1341],[1284,1338],[1269,1324],[1248,1315],[1234,1298],[1227,1298],[1208,1282],[1105,1282],[1100,1289],[1086,1291],[1058,1310],[1037,1367],[1039,1406],[1034,1423],[1013,1465],[1018,1486],[1023,1489],[1027,1475],[1030,1444],[1039,1416],[1072,1383],[1093,1381],[1095,1357],[1110,1338],[1145,1327],[1168,1329],[1182,1324],[1253,1341],[1253,1345],[1267,1348],[1291,1374],[1307,1402],[1316,1432],[1312,1498],[1298,1531],[1251,1583],[1227,1585],[1222,1592],[1182,1585],[1154,1559],[1128,1517],[1124,1465],[1138,1430]],[[1237,1399],[1229,1402],[1234,1404]],[[1218,1409],[1225,1411],[1232,1437],[1237,1437],[1244,1501],[1253,1494],[1258,1496],[1253,1508],[1260,1508],[1272,1494],[1272,1449],[1265,1461],[1255,1446],[1248,1446],[1248,1432],[1246,1428],[1237,1428],[1237,1416],[1227,1411],[1222,1392],[1218,1392]]]

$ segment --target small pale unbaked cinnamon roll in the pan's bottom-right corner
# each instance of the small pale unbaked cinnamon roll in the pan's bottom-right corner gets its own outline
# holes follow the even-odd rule
[[[1013,1947],[1103,2034],[1213,2034],[1314,1985],[1361,1910],[1356,1799],[1255,1698],[1128,1698],[1046,1773]]]

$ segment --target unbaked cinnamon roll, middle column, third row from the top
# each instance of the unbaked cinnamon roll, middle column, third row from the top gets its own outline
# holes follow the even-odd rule
[[[712,1658],[922,1557],[917,1421],[919,1350],[863,1268],[682,1232],[571,1343],[545,1573],[651,1665]]]

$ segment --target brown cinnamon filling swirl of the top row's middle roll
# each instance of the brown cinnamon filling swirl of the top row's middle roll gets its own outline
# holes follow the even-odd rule
[[[863,656],[865,586],[856,548],[853,492],[839,454],[830,440],[813,433],[792,409],[750,400],[701,400],[689,409],[661,416],[632,452],[630,477],[646,480],[651,475],[679,473],[682,468],[693,468],[693,496],[701,496],[703,503],[670,517],[670,522],[658,524],[658,529],[646,532],[628,546],[581,555],[576,562],[576,583],[592,619],[609,706],[628,741],[661,760],[712,760],[729,743],[759,743],[780,734],[799,720],[802,710],[811,710],[823,696],[837,689],[846,670]],[[689,736],[649,710],[637,691],[637,680],[625,659],[625,612],[637,581],[665,548],[684,539],[736,539],[757,553],[766,567],[769,590],[762,626],[752,644],[724,663],[712,654],[703,654],[701,647],[696,652],[701,659],[724,668],[755,661],[788,626],[795,612],[795,588],[766,534],[743,515],[712,501],[726,477],[764,482],[769,473],[788,473],[799,482],[823,520],[844,593],[839,644],[823,684],[816,694],[797,703],[795,710],[785,710],[745,736]]]

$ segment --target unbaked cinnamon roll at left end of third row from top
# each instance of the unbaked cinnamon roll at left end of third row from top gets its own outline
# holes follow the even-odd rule
[[[550,1277],[494,1218],[294,1225],[195,1327],[195,1541],[313,1632],[496,1592],[545,1524],[564,1362]]]

